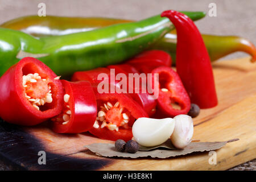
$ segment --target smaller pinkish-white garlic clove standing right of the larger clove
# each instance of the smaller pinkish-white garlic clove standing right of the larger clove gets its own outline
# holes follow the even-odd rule
[[[171,135],[172,144],[176,148],[186,147],[193,137],[193,120],[189,115],[180,114],[174,117],[175,129]]]

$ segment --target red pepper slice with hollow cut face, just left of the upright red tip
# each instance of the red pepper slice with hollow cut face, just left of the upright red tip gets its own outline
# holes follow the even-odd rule
[[[155,68],[152,75],[155,73],[159,75],[159,97],[155,117],[175,117],[179,114],[187,114],[191,102],[179,75],[170,67]]]

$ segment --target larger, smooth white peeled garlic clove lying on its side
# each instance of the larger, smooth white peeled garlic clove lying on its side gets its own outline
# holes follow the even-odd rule
[[[133,137],[142,146],[158,146],[170,138],[174,126],[172,118],[138,118],[133,124]]]

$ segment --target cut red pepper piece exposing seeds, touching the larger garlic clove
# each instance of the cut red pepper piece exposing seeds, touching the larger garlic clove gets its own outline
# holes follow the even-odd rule
[[[102,139],[123,139],[126,142],[130,140],[133,137],[131,127],[135,119],[148,117],[147,113],[127,94],[100,94],[97,86],[94,92],[98,116],[89,132]]]

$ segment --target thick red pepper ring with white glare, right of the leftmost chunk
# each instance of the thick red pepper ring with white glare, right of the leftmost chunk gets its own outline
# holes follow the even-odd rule
[[[88,81],[61,80],[64,87],[64,107],[52,118],[56,133],[82,133],[91,129],[96,121],[97,103],[92,85]]]

